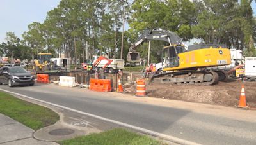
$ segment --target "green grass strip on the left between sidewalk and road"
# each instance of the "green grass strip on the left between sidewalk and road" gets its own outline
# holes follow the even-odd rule
[[[17,99],[4,92],[0,92],[0,113],[33,130],[47,127],[59,120],[58,114],[51,109]]]

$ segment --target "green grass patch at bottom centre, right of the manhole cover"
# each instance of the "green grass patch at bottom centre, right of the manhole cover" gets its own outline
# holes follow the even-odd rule
[[[137,145],[137,144],[162,144],[155,139],[147,137],[146,135],[138,135],[134,132],[129,132],[122,128],[116,128],[113,130],[108,130],[99,134],[90,134],[83,137],[77,137],[74,139],[69,139],[65,141],[58,142],[60,144],[97,144],[97,145]]]

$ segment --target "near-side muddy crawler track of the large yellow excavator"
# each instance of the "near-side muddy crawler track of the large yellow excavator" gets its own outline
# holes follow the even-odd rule
[[[176,71],[157,74],[150,79],[151,83],[215,85],[219,81],[214,71]]]

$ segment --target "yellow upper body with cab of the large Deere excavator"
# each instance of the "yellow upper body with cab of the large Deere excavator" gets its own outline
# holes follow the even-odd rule
[[[214,67],[223,66],[231,63],[230,50],[227,48],[214,48],[209,46],[208,48],[200,48],[187,52],[175,53],[175,47],[177,46],[166,46],[164,47],[164,62],[163,71],[175,71],[180,69],[189,68],[201,68],[201,67]],[[173,53],[172,53],[173,52]],[[172,56],[170,57],[172,53]]]

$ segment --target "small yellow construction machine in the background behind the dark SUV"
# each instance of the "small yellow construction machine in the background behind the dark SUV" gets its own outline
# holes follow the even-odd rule
[[[51,69],[51,53],[39,53],[38,60],[35,60],[36,71],[49,71]]]

